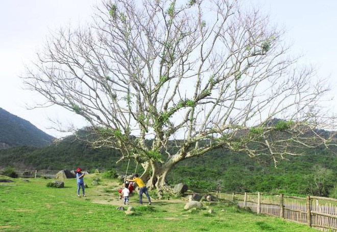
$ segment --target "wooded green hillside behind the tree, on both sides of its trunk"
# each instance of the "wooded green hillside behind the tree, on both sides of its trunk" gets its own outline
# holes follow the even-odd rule
[[[126,171],[128,160],[116,164],[119,152],[92,149],[68,136],[44,148],[17,147],[0,150],[0,168],[22,169],[116,169]],[[128,174],[135,171],[130,162]],[[168,182],[185,182],[191,189],[214,190],[216,185],[228,192],[274,192],[337,197],[337,157],[324,148],[308,149],[305,155],[289,157],[274,167],[266,157],[252,159],[240,153],[217,149],[202,157],[178,164]],[[140,165],[137,172],[141,173]]]

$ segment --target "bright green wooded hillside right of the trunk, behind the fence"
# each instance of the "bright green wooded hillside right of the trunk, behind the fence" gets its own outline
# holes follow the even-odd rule
[[[216,182],[230,192],[273,192],[337,197],[337,156],[325,149],[308,149],[302,156],[281,160],[277,168],[266,157],[215,150],[202,158],[185,160],[170,178],[199,188]]]

